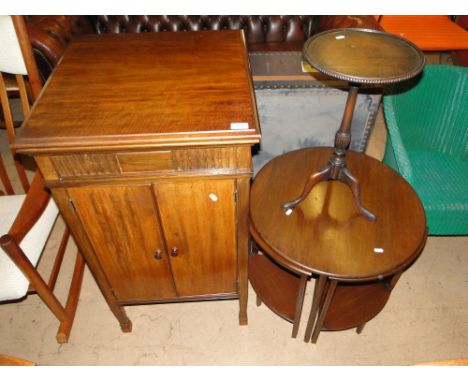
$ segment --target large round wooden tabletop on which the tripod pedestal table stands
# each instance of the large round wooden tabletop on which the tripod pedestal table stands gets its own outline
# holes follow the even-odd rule
[[[363,281],[402,270],[424,245],[424,208],[406,180],[376,159],[347,153],[362,204],[377,215],[375,222],[359,213],[351,189],[340,181],[316,184],[291,214],[283,210],[332,152],[325,147],[300,149],[260,170],[250,199],[253,238],[277,262],[302,274]]]

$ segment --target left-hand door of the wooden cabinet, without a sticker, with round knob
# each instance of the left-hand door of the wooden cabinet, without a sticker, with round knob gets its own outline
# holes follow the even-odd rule
[[[119,301],[175,296],[151,186],[70,188],[68,194]]]

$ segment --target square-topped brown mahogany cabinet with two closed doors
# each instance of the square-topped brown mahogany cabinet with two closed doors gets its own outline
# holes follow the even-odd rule
[[[253,94],[240,31],[83,36],[44,87],[15,146],[124,331],[165,301],[239,298],[247,323]]]

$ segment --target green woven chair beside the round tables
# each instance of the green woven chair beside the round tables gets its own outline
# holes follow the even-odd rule
[[[416,190],[430,235],[468,234],[468,68],[427,65],[409,90],[383,97],[383,162]]]

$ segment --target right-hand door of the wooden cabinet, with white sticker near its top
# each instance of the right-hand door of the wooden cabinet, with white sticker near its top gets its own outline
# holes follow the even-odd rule
[[[236,292],[234,181],[162,182],[154,189],[178,295]]]

